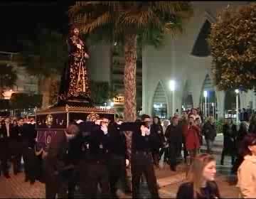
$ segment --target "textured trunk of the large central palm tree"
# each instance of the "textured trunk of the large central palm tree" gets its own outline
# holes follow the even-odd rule
[[[136,119],[136,62],[137,35],[127,34],[124,37],[124,120],[134,122]],[[132,133],[126,132],[127,154],[132,153]]]

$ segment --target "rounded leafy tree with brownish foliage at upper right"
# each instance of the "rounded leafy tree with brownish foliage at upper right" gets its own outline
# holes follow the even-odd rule
[[[208,42],[219,90],[250,90],[256,83],[256,4],[228,7],[212,24]]]

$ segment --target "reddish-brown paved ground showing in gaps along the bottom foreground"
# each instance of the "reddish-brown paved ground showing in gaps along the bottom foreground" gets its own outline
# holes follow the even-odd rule
[[[184,166],[178,166],[176,172],[170,171],[169,166],[156,169],[156,178],[159,183],[159,193],[161,198],[175,198],[178,186],[185,181]],[[220,193],[223,198],[236,198],[238,190],[235,185],[229,185],[228,177],[219,175],[217,183],[220,188]],[[146,186],[142,185],[143,187]],[[146,196],[147,194],[145,194]],[[0,198],[45,198],[45,185],[36,181],[35,184],[24,182],[23,173],[18,173],[14,176],[11,173],[11,178],[6,179],[0,177]],[[122,195],[122,198],[131,198],[131,195]]]

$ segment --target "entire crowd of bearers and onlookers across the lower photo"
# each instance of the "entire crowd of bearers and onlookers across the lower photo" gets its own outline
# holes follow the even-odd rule
[[[132,132],[131,154],[127,154],[127,131]],[[143,178],[152,197],[159,198],[154,168],[159,168],[163,157],[171,171],[176,171],[183,159],[190,169],[188,182],[178,188],[177,198],[220,198],[214,181],[216,135],[214,118],[203,119],[198,109],[176,113],[162,122],[159,117],[151,119],[146,114],[135,122],[95,118],[92,122],[70,122],[66,131],[53,136],[44,153],[37,151],[33,118],[6,117],[0,119],[1,173],[10,178],[8,163],[13,164],[14,175],[20,173],[23,157],[24,181],[46,183],[46,198],[56,195],[73,198],[76,188],[86,198],[95,198],[99,190],[103,198],[117,198],[119,181],[125,192],[139,198]],[[255,198],[256,116],[241,122],[238,130],[232,119],[225,119],[223,136],[220,164],[226,155],[231,156],[232,172],[238,173],[240,195]],[[203,139],[207,146],[205,154],[200,153]],[[128,166],[132,171],[132,187],[127,181]]]

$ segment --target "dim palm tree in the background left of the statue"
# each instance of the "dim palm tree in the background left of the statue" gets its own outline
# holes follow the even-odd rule
[[[55,80],[58,80],[66,61],[68,48],[65,38],[56,31],[38,28],[36,38],[24,39],[23,57],[26,59],[26,70],[29,75],[38,77],[38,87],[43,95],[42,108],[50,105],[50,90]]]

